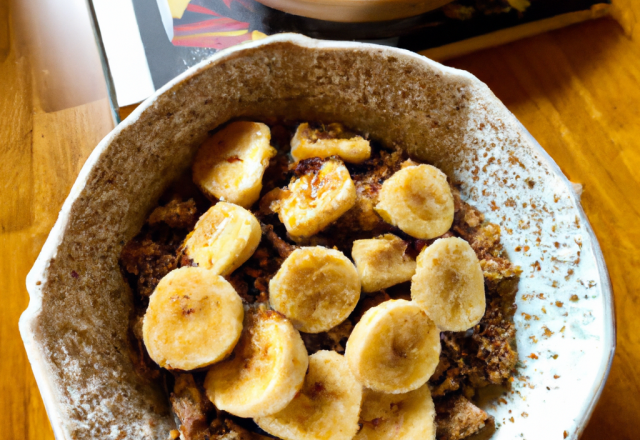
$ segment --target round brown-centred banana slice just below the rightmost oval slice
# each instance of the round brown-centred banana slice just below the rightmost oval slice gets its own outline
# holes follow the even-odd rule
[[[420,388],[440,356],[440,332],[411,301],[390,300],[369,309],[356,324],[345,352],[356,379],[367,388],[399,394]]]

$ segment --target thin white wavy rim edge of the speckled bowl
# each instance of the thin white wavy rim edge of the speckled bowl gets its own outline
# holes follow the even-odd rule
[[[36,378],[36,382],[40,389],[42,398],[44,400],[45,408],[49,415],[49,419],[51,421],[54,434],[57,439],[68,439],[67,431],[64,428],[63,418],[61,416],[61,408],[59,407],[60,403],[56,400],[55,391],[54,391],[54,383],[53,378],[47,373],[47,367],[45,364],[45,360],[43,359],[42,353],[38,348],[38,342],[36,340],[36,334],[33,331],[32,323],[37,319],[38,315],[42,311],[42,284],[44,280],[47,279],[47,270],[50,265],[52,258],[56,256],[58,246],[61,243],[64,231],[67,227],[69,214],[72,206],[76,202],[79,194],[84,188],[87,179],[89,177],[90,172],[92,171],[94,165],[102,156],[102,154],[107,150],[113,139],[118,136],[120,132],[122,132],[125,128],[136,123],[140,115],[145,112],[153,103],[157,100],[158,96],[163,94],[171,93],[171,90],[181,82],[198,75],[200,72],[207,69],[207,66],[211,63],[219,61],[221,59],[225,59],[229,57],[231,54],[234,54],[239,51],[243,51],[251,48],[258,48],[263,45],[269,45],[276,42],[285,42],[291,43],[294,45],[302,46],[305,48],[323,48],[323,49],[371,49],[371,50],[380,50],[380,46],[369,45],[363,43],[353,43],[353,42],[334,42],[334,41],[321,41],[310,39],[297,34],[280,34],[268,37],[263,40],[245,43],[239,46],[232,47],[230,49],[226,49],[220,51],[213,55],[211,58],[199,63],[193,68],[189,69],[182,75],[176,77],[174,80],[169,82],[167,85],[158,90],[153,96],[144,101],[124,122],[118,125],[111,133],[109,133],[95,148],[92,154],[87,159],[84,164],[75,184],[73,185],[71,192],[66,199],[58,220],[51,230],[41,252],[38,256],[33,268],[31,269],[29,275],[27,276],[27,290],[30,295],[30,303],[27,310],[23,313],[20,318],[20,333],[22,335],[25,349],[27,351],[27,355],[29,361],[32,365],[32,369]],[[462,72],[457,69],[441,66],[440,64],[431,61],[427,58],[424,58],[415,53],[394,49],[394,48],[385,48],[385,51],[392,52],[394,55],[403,58],[413,58],[414,60],[419,61],[420,63],[426,63],[434,68],[437,68],[444,74],[456,75],[458,77],[466,77],[474,82],[479,82],[473,75]],[[513,116],[513,115],[511,115]],[[514,120],[515,117],[513,117]],[[566,186],[566,188],[571,189],[571,183],[564,176],[560,168],[553,161],[553,159],[545,152],[545,150],[538,144],[538,142],[528,133],[528,131],[520,124],[521,133],[529,138],[530,144],[536,149],[536,153],[538,157],[541,158],[542,161],[546,162],[546,165],[553,171],[557,178],[559,178],[562,183]],[[605,265],[604,257],[598,245],[597,238],[591,228],[588,219],[582,210],[582,207],[579,203],[578,197],[572,192],[571,197],[575,201],[575,205],[579,210],[580,221],[585,227],[585,231],[591,239],[592,243],[592,252],[595,255],[597,260],[597,270],[598,275],[600,277],[600,292],[604,296],[604,349],[603,352],[608,353],[608,356],[603,357],[600,360],[600,364],[598,366],[598,374],[597,380],[595,383],[589,384],[591,388],[590,399],[588,402],[582,404],[582,412],[578,419],[575,420],[576,430],[572,432],[572,435],[579,436],[584,427],[586,426],[594,407],[600,397],[604,384],[609,374],[609,370],[611,367],[611,362],[613,359],[613,354],[615,351],[616,344],[616,329],[615,329],[615,316],[614,316],[614,303],[613,303],[613,295],[611,282],[609,279],[609,275],[607,272],[607,268]]]

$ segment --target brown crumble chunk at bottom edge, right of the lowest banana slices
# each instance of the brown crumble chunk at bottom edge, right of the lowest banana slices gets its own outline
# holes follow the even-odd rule
[[[460,440],[481,432],[491,435],[495,430],[493,417],[460,394],[436,399],[435,406],[438,440]]]

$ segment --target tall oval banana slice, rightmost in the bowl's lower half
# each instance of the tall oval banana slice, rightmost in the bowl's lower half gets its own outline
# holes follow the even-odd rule
[[[441,238],[418,255],[411,298],[443,331],[460,332],[484,316],[484,277],[476,253],[461,238]]]

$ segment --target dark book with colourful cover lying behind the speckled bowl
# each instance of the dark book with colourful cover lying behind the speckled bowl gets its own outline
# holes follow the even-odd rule
[[[456,0],[397,20],[341,23],[256,0],[90,0],[112,106],[122,118],[189,67],[281,32],[367,41],[438,61],[609,14],[609,0]]]

